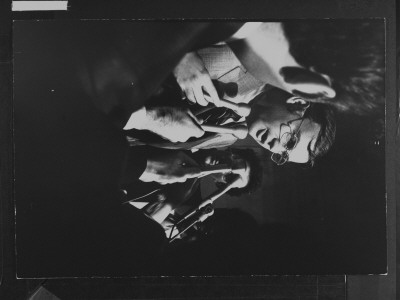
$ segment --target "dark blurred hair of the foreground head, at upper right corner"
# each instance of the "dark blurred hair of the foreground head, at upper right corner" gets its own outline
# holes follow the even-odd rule
[[[289,51],[305,68],[328,75],[334,99],[319,99],[360,115],[384,104],[383,20],[306,20],[282,23]],[[318,99],[315,99],[318,101]]]

